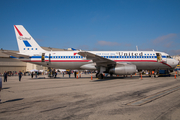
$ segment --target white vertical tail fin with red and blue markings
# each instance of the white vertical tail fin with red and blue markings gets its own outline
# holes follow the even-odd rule
[[[45,51],[37,44],[37,42],[22,25],[14,25],[14,30],[20,53]]]

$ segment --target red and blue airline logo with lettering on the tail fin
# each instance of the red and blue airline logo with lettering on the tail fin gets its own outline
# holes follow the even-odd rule
[[[31,37],[23,37],[23,34],[19,31],[19,29],[14,25],[16,31],[18,32],[19,34],[19,40],[23,40],[23,43],[26,47],[32,47],[31,44],[27,41],[27,40],[31,40]]]

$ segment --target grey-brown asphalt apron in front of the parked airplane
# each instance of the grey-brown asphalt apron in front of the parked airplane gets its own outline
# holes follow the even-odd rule
[[[8,77],[0,93],[0,120],[180,119],[180,77],[57,77],[23,76],[21,82]]]

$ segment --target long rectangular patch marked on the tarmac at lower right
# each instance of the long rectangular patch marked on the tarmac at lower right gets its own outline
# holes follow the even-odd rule
[[[145,97],[143,99],[140,99],[140,100],[137,100],[137,101],[133,101],[133,102],[130,102],[128,103],[127,105],[133,105],[133,106],[141,106],[141,105],[144,105],[148,102],[151,102],[153,100],[156,100],[160,97],[163,97],[167,94],[170,94],[174,91],[177,91],[180,89],[180,86],[176,86],[176,87],[173,87],[173,88],[170,88],[170,89],[167,89],[167,90],[164,90],[164,91],[161,91],[161,92],[158,92],[156,94],[153,94],[153,95],[150,95],[148,97]]]

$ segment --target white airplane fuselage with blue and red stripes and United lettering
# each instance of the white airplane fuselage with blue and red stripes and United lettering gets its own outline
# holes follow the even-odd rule
[[[21,59],[25,62],[59,69],[96,69],[93,61],[78,55],[79,51],[51,51],[45,53],[45,62],[42,62],[42,53],[33,54],[30,59]],[[116,63],[131,63],[137,69],[174,69],[178,61],[168,58],[168,54],[157,51],[88,51],[95,55],[111,59]],[[157,60],[160,53],[161,60]],[[87,67],[86,67],[87,65]],[[90,66],[88,66],[90,65]],[[84,67],[85,66],[85,67]]]

